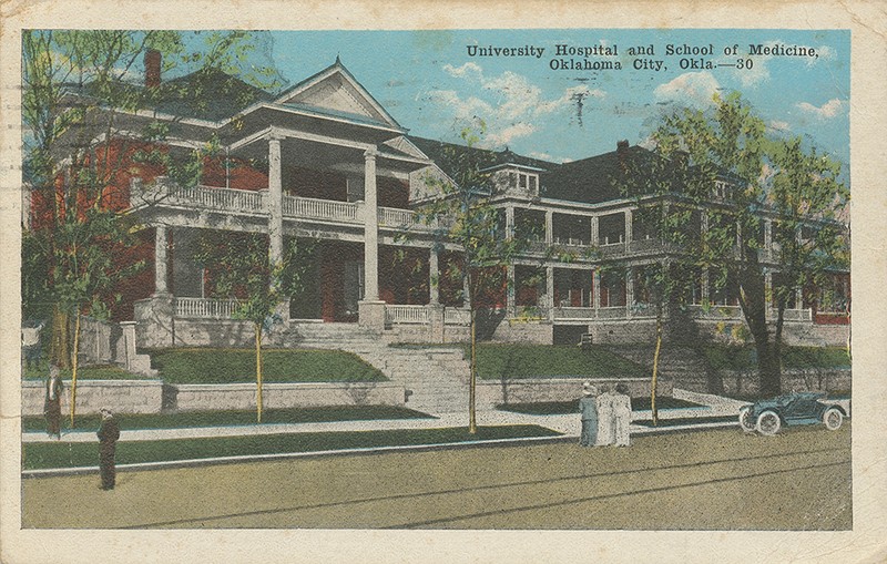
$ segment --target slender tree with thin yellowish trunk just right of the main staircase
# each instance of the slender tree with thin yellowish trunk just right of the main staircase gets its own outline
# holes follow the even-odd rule
[[[450,176],[426,176],[426,187],[436,197],[418,209],[420,219],[438,226],[438,248],[443,248],[445,243],[455,244],[461,258],[448,262],[441,277],[465,281],[461,294],[470,309],[468,432],[472,434],[477,432],[478,312],[506,288],[506,268],[530,245],[529,238],[507,233],[503,214],[491,201],[492,178],[485,171],[491,164],[490,154],[476,148],[485,130],[486,124],[479,121],[477,129],[461,131],[466,147],[445,150],[445,167]]]

